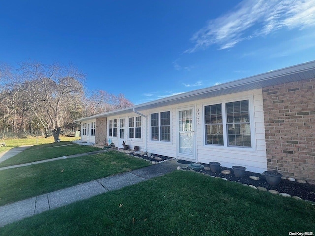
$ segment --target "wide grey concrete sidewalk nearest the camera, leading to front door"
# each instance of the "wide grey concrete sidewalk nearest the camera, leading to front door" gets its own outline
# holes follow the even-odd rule
[[[177,163],[177,160],[172,160],[1,206],[0,227],[50,209],[162,176],[172,172],[177,166],[186,165]]]

